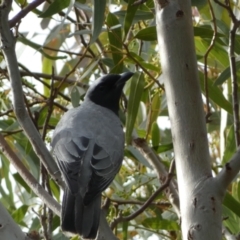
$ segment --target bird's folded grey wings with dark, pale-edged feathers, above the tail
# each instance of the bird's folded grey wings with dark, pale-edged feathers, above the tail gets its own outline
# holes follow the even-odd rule
[[[58,142],[56,137],[59,138]],[[112,182],[121,166],[122,157],[114,151],[109,154],[87,137],[71,138],[65,133],[55,138],[54,154],[68,188],[72,194],[82,188],[84,203],[91,202]]]

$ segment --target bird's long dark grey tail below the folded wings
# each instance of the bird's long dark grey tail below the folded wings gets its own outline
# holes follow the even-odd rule
[[[88,205],[83,204],[80,194],[72,195],[66,190],[62,207],[62,230],[78,233],[86,239],[95,239],[99,226],[101,195]]]

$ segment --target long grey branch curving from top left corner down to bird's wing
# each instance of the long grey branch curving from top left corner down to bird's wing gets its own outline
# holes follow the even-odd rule
[[[57,164],[42,141],[40,134],[35,128],[24,106],[21,76],[18,70],[18,63],[15,53],[15,38],[10,31],[8,24],[8,14],[11,9],[11,4],[12,0],[4,0],[0,7],[0,36],[2,51],[11,80],[13,108],[20,125],[28,136],[32,147],[34,148],[41,162],[45,165],[48,172],[58,182],[58,184],[64,186]]]

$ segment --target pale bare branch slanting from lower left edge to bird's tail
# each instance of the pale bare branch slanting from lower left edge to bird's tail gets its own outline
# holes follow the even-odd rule
[[[3,154],[16,168],[20,176],[32,189],[32,191],[49,207],[53,212],[60,216],[60,204],[53,199],[49,193],[38,183],[28,169],[23,165],[16,153],[10,148],[4,137],[0,134],[0,148]]]

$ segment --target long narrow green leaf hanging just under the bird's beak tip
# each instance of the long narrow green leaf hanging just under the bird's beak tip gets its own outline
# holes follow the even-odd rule
[[[130,96],[127,108],[127,122],[126,122],[126,143],[130,144],[132,140],[132,131],[137,117],[138,108],[141,96],[144,89],[144,75],[143,73],[134,74],[131,80]]]

